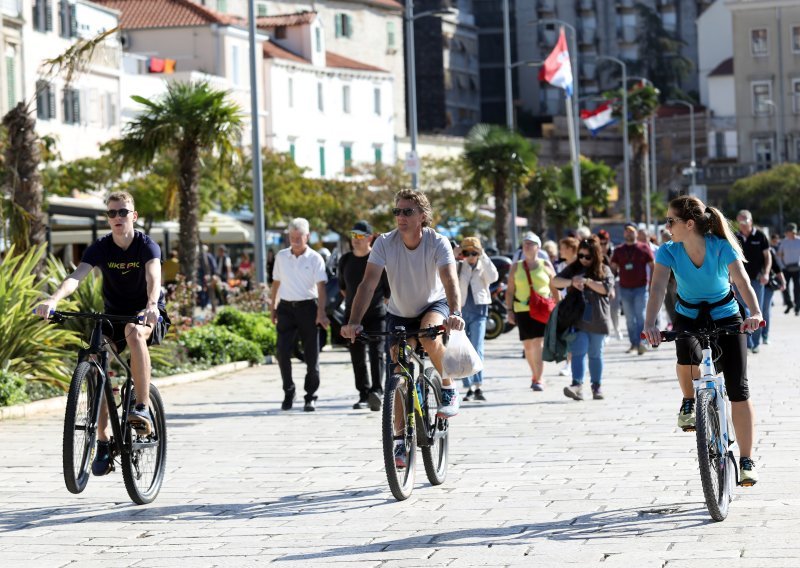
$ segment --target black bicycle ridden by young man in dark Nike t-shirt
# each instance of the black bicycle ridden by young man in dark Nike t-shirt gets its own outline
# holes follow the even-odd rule
[[[136,404],[131,370],[103,337],[103,322],[141,324],[140,319],[137,316],[58,311],[51,312],[50,319],[54,323],[64,323],[68,319],[94,322],[89,347],[78,353],[78,366],[72,374],[67,394],[63,441],[64,482],[67,489],[71,493],[80,493],[89,482],[98,418],[105,395],[113,432],[109,446],[112,471],[117,458],[120,458],[122,478],[130,498],[138,505],[152,502],[161,489],[167,459],[164,404],[158,389],[151,384],[149,408],[153,419],[152,431],[144,435],[131,427],[128,412]],[[120,385],[119,402],[114,397],[109,378],[109,353],[126,376]]]

